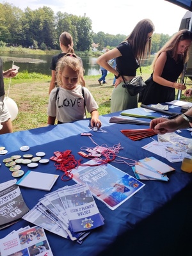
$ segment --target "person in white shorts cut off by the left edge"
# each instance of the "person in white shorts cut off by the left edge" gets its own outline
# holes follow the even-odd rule
[[[3,71],[3,61],[0,58],[0,134],[13,132],[11,115],[4,102],[4,80],[3,78],[15,77],[17,75],[15,68]]]

